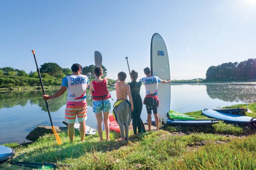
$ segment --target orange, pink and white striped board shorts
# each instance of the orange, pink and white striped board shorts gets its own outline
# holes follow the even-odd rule
[[[86,100],[74,102],[68,101],[65,109],[65,121],[67,123],[75,123],[76,117],[78,122],[83,122],[87,119],[87,103]]]

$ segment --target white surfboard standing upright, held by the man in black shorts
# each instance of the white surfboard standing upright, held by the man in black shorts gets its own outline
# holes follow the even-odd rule
[[[150,64],[152,76],[157,76],[162,80],[171,79],[167,48],[164,39],[158,33],[155,33],[151,39]],[[159,83],[157,93],[159,100],[157,112],[160,119],[159,128],[161,128],[168,119],[167,114],[171,103],[171,85]]]

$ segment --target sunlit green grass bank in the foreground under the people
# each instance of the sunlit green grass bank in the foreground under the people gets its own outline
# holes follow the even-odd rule
[[[237,107],[245,105],[236,105]],[[256,103],[250,104],[256,116]],[[189,112],[196,118],[206,119],[201,111]],[[62,144],[57,145],[54,135],[45,135],[26,147],[5,144],[16,150],[13,161],[55,162],[68,164],[69,169],[256,169],[256,135],[252,126],[220,122],[212,127],[165,127],[118,142],[116,132],[110,141],[99,141],[99,136],[86,136],[69,143],[65,132],[60,133]],[[20,167],[4,163],[2,169]],[[29,169],[29,168],[22,168]],[[60,167],[60,169],[68,169]]]

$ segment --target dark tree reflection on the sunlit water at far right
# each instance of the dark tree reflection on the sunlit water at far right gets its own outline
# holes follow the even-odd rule
[[[207,84],[206,91],[212,99],[230,102],[256,102],[255,84]]]

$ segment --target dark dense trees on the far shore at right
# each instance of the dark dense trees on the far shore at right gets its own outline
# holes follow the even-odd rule
[[[206,71],[206,80],[250,80],[256,79],[256,58],[240,63],[229,62],[211,66]]]

